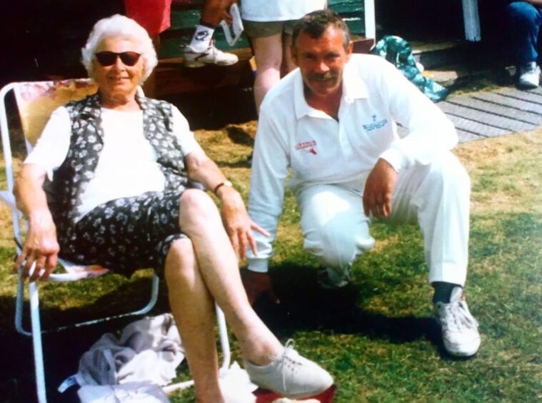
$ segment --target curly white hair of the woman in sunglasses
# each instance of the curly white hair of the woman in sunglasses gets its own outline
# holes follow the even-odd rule
[[[123,36],[133,39],[139,44],[139,49],[134,49],[141,54],[144,63],[144,73],[141,77],[145,81],[153,71],[158,59],[151,38],[147,31],[133,19],[115,14],[99,20],[94,24],[86,45],[81,49],[81,63],[85,66],[89,77],[94,78],[94,60],[96,59],[96,48],[106,36]],[[141,83],[142,84],[142,83]]]

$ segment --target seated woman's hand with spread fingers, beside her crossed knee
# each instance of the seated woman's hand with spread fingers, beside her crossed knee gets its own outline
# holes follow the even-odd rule
[[[248,246],[254,254],[258,254],[252,231],[257,231],[266,237],[269,237],[269,232],[251,220],[238,191],[231,187],[221,186],[217,191],[217,196],[221,199],[222,222],[237,256],[244,259]]]

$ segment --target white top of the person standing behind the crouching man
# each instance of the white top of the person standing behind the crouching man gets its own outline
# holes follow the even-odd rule
[[[326,0],[243,0],[241,18],[247,21],[288,21],[321,10]]]

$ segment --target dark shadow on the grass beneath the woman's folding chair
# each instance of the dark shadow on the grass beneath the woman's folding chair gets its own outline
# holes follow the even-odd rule
[[[151,315],[169,310],[166,295],[164,295],[166,294],[165,288],[161,287],[161,289],[159,301],[149,313]],[[115,289],[114,292],[104,294],[95,302],[80,308],[43,307],[41,309],[42,327],[57,327],[73,323],[75,320],[81,322],[139,309],[146,304],[146,298],[149,295],[149,279],[132,279],[129,283]],[[126,304],[126,301],[129,301],[129,304]],[[15,299],[1,297],[0,402],[35,402],[36,385],[34,383],[32,339],[16,332],[13,324],[14,312]],[[25,314],[27,312],[26,309]],[[29,320],[27,319],[29,318],[25,317],[25,329],[29,329]],[[139,317],[112,319],[109,322],[88,327],[44,334],[42,343],[48,400],[50,402],[79,402],[76,387],[68,389],[64,394],[56,392],[56,388],[66,377],[77,372],[79,358],[102,334],[123,329],[136,319]]]

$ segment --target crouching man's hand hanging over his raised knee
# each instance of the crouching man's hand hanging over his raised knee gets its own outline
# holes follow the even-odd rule
[[[376,219],[391,214],[391,194],[397,183],[397,171],[385,159],[378,159],[367,176],[363,191],[363,210],[365,215],[373,214]]]

